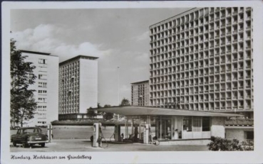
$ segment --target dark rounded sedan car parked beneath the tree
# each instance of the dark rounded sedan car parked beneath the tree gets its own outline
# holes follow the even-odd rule
[[[42,133],[40,128],[26,127],[17,130],[16,134],[11,136],[11,142],[14,146],[16,146],[16,143],[20,143],[23,145],[23,148],[35,144],[45,147],[45,143],[48,143],[48,138]]]

